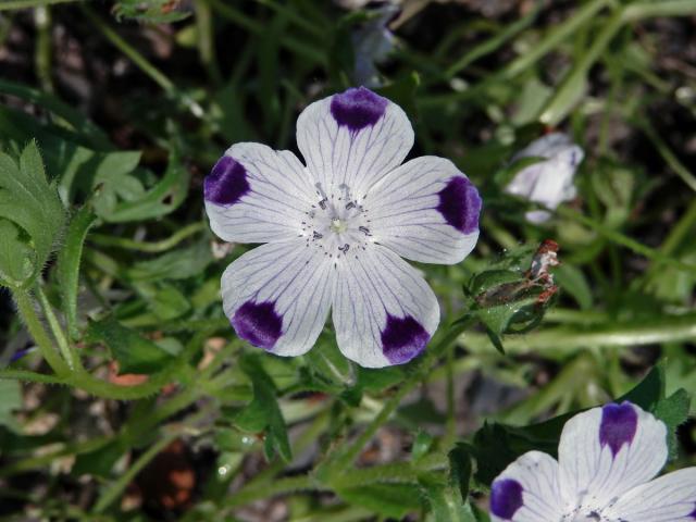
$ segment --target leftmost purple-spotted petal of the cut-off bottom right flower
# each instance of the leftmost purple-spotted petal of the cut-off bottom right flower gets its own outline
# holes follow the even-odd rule
[[[556,522],[562,514],[558,462],[540,451],[524,453],[490,486],[493,522]]]

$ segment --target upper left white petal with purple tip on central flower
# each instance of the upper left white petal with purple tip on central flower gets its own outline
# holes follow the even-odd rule
[[[297,237],[316,200],[297,157],[261,144],[233,145],[206,177],[204,191],[211,228],[235,243]]]

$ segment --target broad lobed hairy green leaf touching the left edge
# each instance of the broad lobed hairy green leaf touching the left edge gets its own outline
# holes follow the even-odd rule
[[[0,254],[0,281],[12,287],[29,286],[48,261],[65,222],[65,211],[55,186],[46,178],[35,141],[26,146],[18,164],[0,153],[0,219],[28,236],[25,241],[22,234],[3,225],[10,240]]]

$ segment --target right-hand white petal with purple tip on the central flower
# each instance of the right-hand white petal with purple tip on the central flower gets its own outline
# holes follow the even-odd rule
[[[444,158],[417,158],[397,167],[364,204],[374,239],[413,261],[459,263],[478,239],[478,191]]]

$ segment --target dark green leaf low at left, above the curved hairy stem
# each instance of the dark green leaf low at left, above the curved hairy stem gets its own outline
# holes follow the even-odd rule
[[[113,316],[90,323],[87,337],[103,343],[111,350],[121,373],[154,373],[172,360],[172,353]]]

